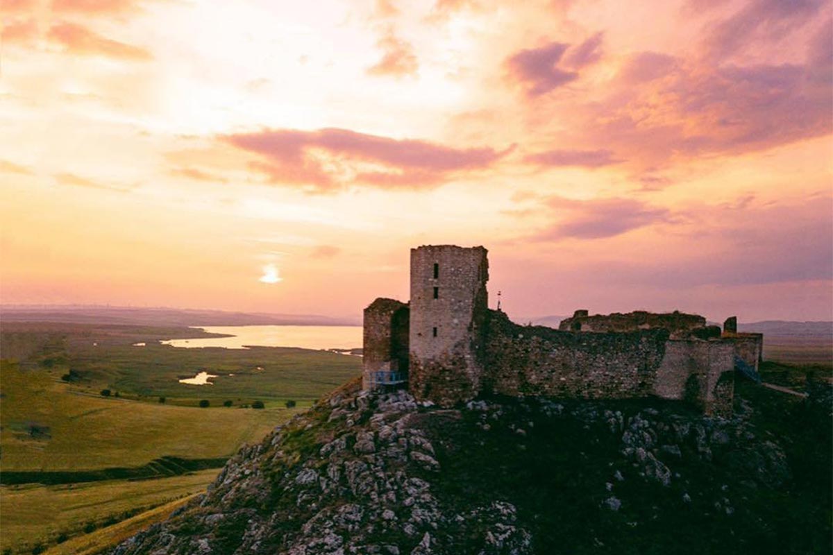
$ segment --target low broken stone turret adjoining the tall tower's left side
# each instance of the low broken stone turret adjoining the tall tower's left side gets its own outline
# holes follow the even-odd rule
[[[364,310],[362,389],[370,389],[374,372],[407,372],[408,305],[377,299]]]

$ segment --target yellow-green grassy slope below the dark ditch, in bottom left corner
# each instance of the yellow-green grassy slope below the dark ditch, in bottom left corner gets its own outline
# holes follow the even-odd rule
[[[31,550],[38,544],[55,542],[62,533],[72,537],[82,535],[85,527],[103,528],[131,513],[145,513],[142,509],[156,508],[201,492],[218,472],[215,468],[175,478],[136,482],[2,487],[0,548],[15,552]],[[65,544],[61,552],[76,553],[74,548],[67,551],[71,546],[72,543]]]

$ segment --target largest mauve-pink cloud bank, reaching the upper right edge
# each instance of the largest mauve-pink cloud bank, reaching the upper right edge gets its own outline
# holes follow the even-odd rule
[[[605,144],[636,171],[675,157],[758,151],[833,131],[831,32],[806,62],[715,66],[656,52],[631,56],[601,100],[567,114],[581,148]],[[534,108],[534,107],[531,107]],[[591,149],[588,149],[591,150]]]

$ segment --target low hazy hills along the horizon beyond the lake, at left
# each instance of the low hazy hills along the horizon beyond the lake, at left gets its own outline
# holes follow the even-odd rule
[[[121,325],[362,325],[358,319],[125,306],[0,306],[2,322]]]

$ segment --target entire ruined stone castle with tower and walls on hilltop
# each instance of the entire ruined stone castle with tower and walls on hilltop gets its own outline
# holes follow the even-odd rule
[[[731,414],[736,367],[756,376],[763,336],[680,312],[589,315],[558,330],[488,308],[482,246],[411,250],[411,300],[364,310],[364,389],[402,387],[442,406],[481,394],[686,399]]]

